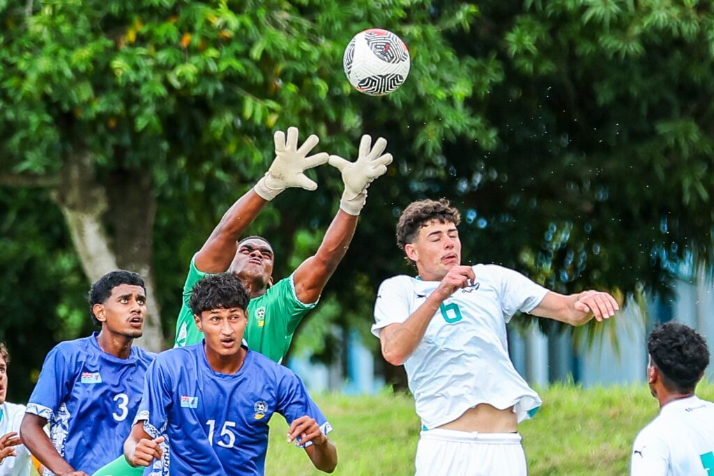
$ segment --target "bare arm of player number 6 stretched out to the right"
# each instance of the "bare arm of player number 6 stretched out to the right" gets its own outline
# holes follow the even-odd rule
[[[620,306],[615,298],[601,291],[588,290],[570,295],[548,291],[531,314],[570,325],[583,325],[592,318],[598,322],[609,319],[617,310]]]

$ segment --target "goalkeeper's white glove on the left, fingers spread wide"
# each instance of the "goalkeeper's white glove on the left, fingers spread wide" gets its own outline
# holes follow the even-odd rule
[[[318,136],[311,135],[300,148],[298,148],[298,128],[296,127],[288,128],[287,141],[283,131],[276,131],[273,138],[275,140],[275,160],[266,174],[253,187],[253,190],[267,201],[273,200],[278,196],[278,193],[290,187],[315,190],[317,183],[308,178],[305,171],[308,168],[321,166],[329,159],[326,152],[306,157],[320,142]]]

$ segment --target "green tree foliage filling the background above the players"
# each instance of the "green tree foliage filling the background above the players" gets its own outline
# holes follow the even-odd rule
[[[82,154],[114,242],[131,241],[140,213],[128,209],[143,210],[123,198],[143,183],[156,220],[134,233],[150,238],[166,335],[192,253],[266,170],[273,131],[292,125],[345,157],[362,133],[382,135],[396,158],[314,321],[368,332],[378,283],[409,272],[396,216],[423,197],[462,209],[468,262],[561,292],[666,295],[677,263],[713,258],[713,21],[692,0],[0,0],[1,183],[61,191]],[[348,40],[373,26],[399,34],[413,61],[383,98],[341,71]],[[251,230],[274,242],[279,276],[336,211],[339,174],[314,175],[318,191],[284,193]],[[61,226],[49,196],[67,218],[64,195],[44,194],[21,200],[36,207],[22,208],[26,223]],[[47,246],[26,260],[72,255],[66,237]],[[63,302],[47,300],[50,314]]]

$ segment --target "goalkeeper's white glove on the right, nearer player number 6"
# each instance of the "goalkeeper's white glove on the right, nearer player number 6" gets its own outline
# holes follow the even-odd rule
[[[380,137],[372,145],[372,137],[364,135],[359,143],[359,156],[349,162],[340,156],[330,156],[330,165],[342,173],[345,190],[340,200],[340,208],[350,215],[359,215],[367,201],[367,187],[372,181],[384,175],[392,162],[392,154],[385,153],[386,139]]]

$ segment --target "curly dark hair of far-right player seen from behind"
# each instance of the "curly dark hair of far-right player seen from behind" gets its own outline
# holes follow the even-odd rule
[[[668,390],[692,393],[709,365],[709,348],[704,338],[687,325],[669,322],[647,338],[652,362],[663,375]]]

